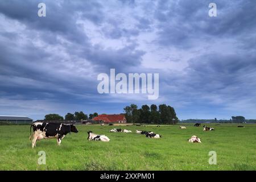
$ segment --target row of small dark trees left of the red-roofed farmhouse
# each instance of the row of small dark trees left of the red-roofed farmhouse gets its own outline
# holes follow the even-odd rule
[[[86,120],[86,119],[93,119],[94,117],[97,117],[98,113],[93,113],[89,114],[89,117],[87,114],[84,114],[84,112],[75,112],[74,114],[72,113],[67,113],[65,115],[65,120],[76,120],[76,121],[81,121],[81,120]],[[64,120],[64,118],[59,115],[59,114],[47,114],[44,116],[44,120],[50,121],[50,120]]]

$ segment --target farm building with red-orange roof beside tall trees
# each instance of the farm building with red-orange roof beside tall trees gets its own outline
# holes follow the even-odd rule
[[[105,123],[126,123],[124,114],[100,114],[93,118],[94,121],[103,121]]]

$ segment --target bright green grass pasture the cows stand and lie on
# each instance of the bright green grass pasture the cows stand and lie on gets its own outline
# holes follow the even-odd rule
[[[208,124],[209,125],[209,124]],[[119,126],[133,133],[109,133],[118,126],[79,125],[79,133],[67,135],[61,146],[56,139],[40,140],[31,148],[30,126],[0,126],[0,170],[255,170],[256,125],[210,124],[203,127]],[[160,139],[146,138],[135,130],[154,131]],[[110,142],[86,140],[87,131],[105,134]],[[197,135],[202,143],[188,143]],[[38,152],[46,152],[46,165],[39,165]],[[217,164],[210,165],[209,151],[216,151]]]

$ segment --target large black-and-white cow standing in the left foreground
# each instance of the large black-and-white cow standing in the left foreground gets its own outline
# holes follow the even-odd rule
[[[69,133],[78,133],[76,126],[67,125],[63,123],[44,123],[34,122],[30,126],[30,139],[31,128],[33,128],[32,148],[36,146],[36,141],[40,139],[57,138],[57,145],[60,146],[61,140]]]

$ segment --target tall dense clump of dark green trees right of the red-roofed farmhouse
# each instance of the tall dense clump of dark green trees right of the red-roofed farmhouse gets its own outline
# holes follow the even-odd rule
[[[142,105],[141,109],[138,106],[131,104],[123,108],[125,117],[129,123],[157,123],[157,124],[175,124],[178,122],[174,107],[161,104],[156,106],[152,104]]]

